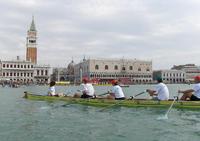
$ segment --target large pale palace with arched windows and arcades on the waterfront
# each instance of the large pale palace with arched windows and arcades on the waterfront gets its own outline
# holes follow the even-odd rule
[[[83,59],[74,65],[75,83],[88,78],[93,83],[107,84],[118,79],[124,84],[152,82],[152,61],[136,59]]]

